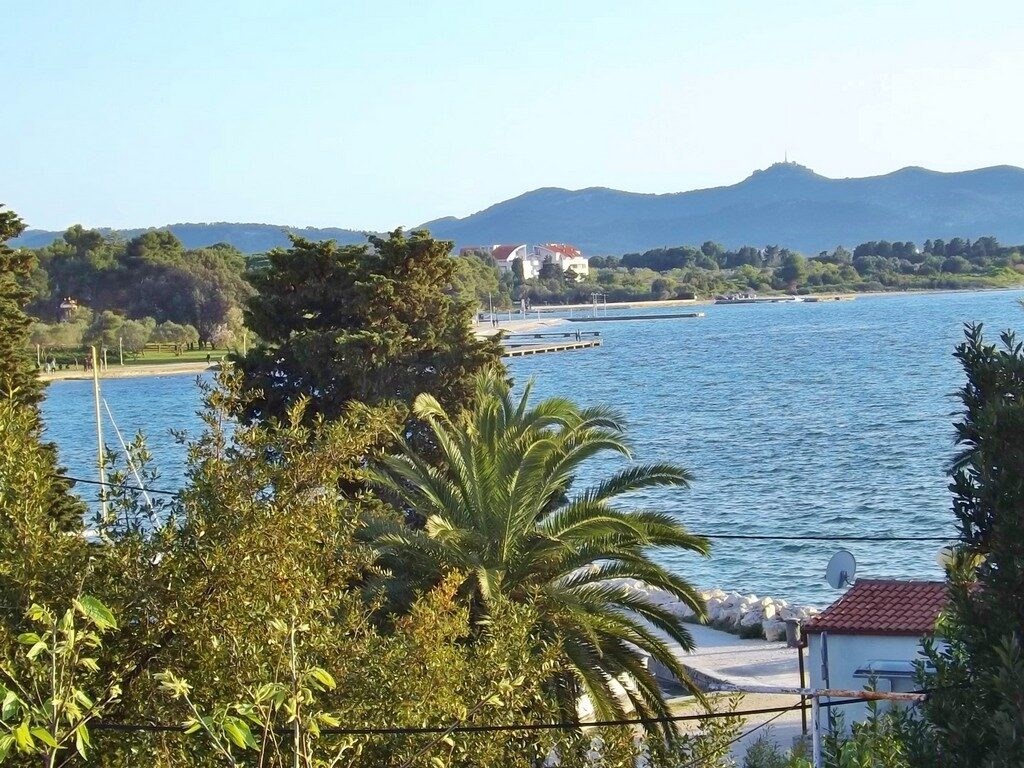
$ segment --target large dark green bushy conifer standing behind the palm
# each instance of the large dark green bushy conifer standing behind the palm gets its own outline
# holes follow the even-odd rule
[[[369,247],[293,238],[271,251],[246,312],[262,342],[238,357],[244,416],[283,418],[308,398],[307,417],[334,419],[352,401],[408,407],[422,392],[466,407],[500,350],[473,335],[473,307],[449,291],[451,248],[395,230]]]

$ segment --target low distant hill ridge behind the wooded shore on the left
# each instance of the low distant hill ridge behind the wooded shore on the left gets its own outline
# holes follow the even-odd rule
[[[298,234],[309,240],[336,240],[339,243],[366,243],[366,234],[354,229],[339,229],[337,227],[317,228],[313,226],[282,226],[280,224],[171,224],[161,227],[168,229],[181,241],[185,248],[207,248],[217,243],[227,243],[243,253],[263,253],[271,248],[288,246],[288,234]],[[131,240],[146,231],[146,229],[102,228],[98,231],[104,236],[117,232],[123,240]],[[14,245],[24,248],[42,248],[59,239],[62,231],[46,229],[28,229],[12,241]]]

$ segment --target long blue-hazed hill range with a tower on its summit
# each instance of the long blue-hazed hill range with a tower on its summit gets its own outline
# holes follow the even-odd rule
[[[778,243],[804,253],[869,240],[1024,241],[1024,169],[959,173],[904,168],[831,179],[795,163],[731,186],[641,195],[604,187],[544,188],[466,218],[424,224],[459,245],[565,242],[591,255],[713,241],[726,248]]]

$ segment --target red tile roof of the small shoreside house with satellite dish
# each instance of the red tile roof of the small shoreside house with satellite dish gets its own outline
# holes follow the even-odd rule
[[[804,625],[804,632],[839,635],[925,635],[946,604],[943,582],[858,579],[850,590]]]

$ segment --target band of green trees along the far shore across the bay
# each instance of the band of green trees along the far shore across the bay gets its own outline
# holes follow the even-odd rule
[[[375,242],[392,237],[334,248],[342,260],[373,260]],[[403,236],[413,244],[409,247],[420,248],[417,237]],[[1024,248],[1000,245],[994,238],[934,239],[920,246],[872,241],[852,251],[838,247],[810,256],[772,245],[729,250],[709,241],[699,247],[594,256],[587,275],[545,265],[540,275],[526,281],[521,272],[499,270],[484,252],[455,257],[449,255],[451,244],[429,242],[438,250],[430,279],[470,312],[518,307],[521,299],[529,305],[590,303],[594,294],[608,301],[648,301],[749,292],[949,290],[1024,283]],[[90,344],[120,350],[128,359],[145,357],[158,345],[177,352],[248,347],[250,341],[281,333],[272,316],[246,323],[248,299],[273,289],[267,283],[273,264],[292,254],[296,269],[295,259],[318,258],[317,245],[297,238],[289,248],[247,255],[224,244],[186,249],[167,230],[148,230],[125,241],[116,233],[73,226],[48,246],[17,251],[33,265],[18,278],[20,290],[30,297],[29,310],[39,318],[30,343],[38,347],[41,359],[60,365],[80,364]],[[354,275],[354,262],[345,268],[349,278]],[[292,276],[303,275],[295,271]]]

